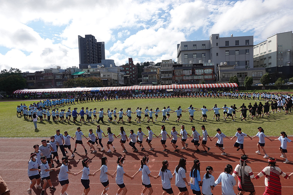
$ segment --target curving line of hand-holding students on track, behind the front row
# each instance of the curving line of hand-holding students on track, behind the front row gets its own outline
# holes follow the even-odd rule
[[[195,127],[192,126],[191,129],[192,129],[192,136],[193,136],[193,138],[192,138],[191,142],[194,144],[195,148],[197,149],[195,152],[200,152],[199,149],[198,149],[198,146],[200,145],[199,141],[202,140],[202,143],[201,144],[202,144],[202,146],[204,148],[203,153],[208,153],[209,150],[211,149],[210,147],[207,146],[207,141],[208,141],[209,135],[208,135],[207,130],[205,129],[205,126],[204,125],[202,125],[201,128],[202,128],[202,131],[203,131],[203,136],[202,137],[195,130]],[[130,134],[129,134],[129,138],[128,138],[126,136],[126,132],[125,132],[124,128],[123,127],[120,128],[120,134],[118,136],[121,136],[120,144],[122,146],[122,149],[123,149],[123,152],[124,153],[127,152],[126,151],[126,147],[124,146],[124,144],[128,140],[130,140],[129,145],[133,148],[133,150],[134,150],[133,152],[137,152],[138,151],[138,149],[135,146],[136,143],[139,144],[140,147],[142,147],[142,151],[144,151],[145,148],[143,146],[143,136],[147,137],[147,139],[145,141],[148,144],[148,146],[150,147],[149,150],[152,151],[152,150],[155,150],[152,147],[152,144],[151,144],[152,137],[153,136],[159,137],[160,135],[162,135],[161,143],[162,143],[162,146],[164,148],[164,150],[163,150],[164,152],[169,152],[169,150],[167,150],[167,148],[166,148],[167,147],[166,146],[167,137],[169,137],[171,139],[171,144],[174,147],[174,152],[177,152],[178,151],[178,149],[177,149],[178,146],[176,145],[177,137],[178,136],[181,136],[182,137],[181,144],[183,146],[182,147],[183,150],[185,150],[188,147],[188,143],[186,143],[188,136],[191,137],[187,133],[187,131],[185,130],[184,125],[181,126],[180,134],[177,133],[177,131],[175,130],[175,127],[172,127],[172,130],[171,130],[171,133],[170,133],[171,136],[169,136],[167,134],[167,131],[166,131],[166,128],[165,128],[164,125],[162,125],[161,133],[158,136],[156,136],[155,134],[153,134],[153,132],[151,131],[151,129],[150,129],[149,126],[147,126],[146,129],[148,130],[148,135],[147,136],[142,132],[142,129],[139,128],[139,131],[137,132],[137,135],[134,134],[134,131],[133,130],[130,130]],[[217,129],[216,131],[217,131],[216,136],[213,137],[213,138],[210,138],[209,137],[209,140],[212,141],[214,138],[217,138],[218,140],[217,140],[217,143],[215,144],[215,146],[217,148],[219,148],[219,150],[222,152],[222,155],[227,155],[224,152],[225,148],[224,148],[224,144],[223,144],[223,139],[226,136],[221,132],[220,129]],[[96,149],[95,149],[94,144],[95,143],[98,143],[98,141],[99,141],[99,144],[102,147],[101,148],[101,152],[104,151],[105,148],[104,148],[103,143],[102,143],[102,134],[104,134],[105,137],[108,137],[108,142],[106,144],[106,146],[108,148],[108,151],[107,152],[108,153],[112,153],[111,150],[110,150],[110,145],[115,150],[115,147],[113,145],[113,141],[114,141],[114,138],[113,137],[116,137],[116,136],[111,132],[110,127],[108,127],[108,129],[107,129],[107,135],[105,135],[105,133],[100,129],[100,126],[98,125],[97,126],[97,130],[96,130],[96,133],[97,133],[97,136],[93,133],[93,130],[90,129],[89,130],[88,137],[85,137],[84,134],[83,134],[83,132],[81,131],[81,128],[78,127],[77,128],[77,131],[75,133],[75,136],[74,137],[70,137],[67,134],[66,131],[64,132],[64,136],[63,136],[60,133],[60,130],[57,130],[56,131],[56,134],[54,136],[50,137],[51,140],[49,141],[49,143],[47,143],[47,140],[43,139],[41,146],[39,146],[38,144],[34,145],[35,152],[31,154],[31,159],[30,159],[30,162],[31,163],[29,163],[29,169],[28,169],[28,176],[32,180],[32,183],[30,185],[30,188],[28,189],[28,193],[29,194],[31,193],[31,188],[36,183],[37,183],[37,189],[41,189],[41,187],[40,187],[40,181],[38,180],[38,179],[40,179],[40,177],[37,176],[37,175],[33,175],[33,174],[34,173],[37,173],[36,172],[37,170],[39,171],[39,170],[42,170],[42,169],[43,169],[43,171],[41,171],[41,177],[43,178],[42,180],[44,181],[44,185],[42,187],[42,193],[41,193],[41,195],[44,194],[43,191],[45,190],[45,187],[46,187],[46,184],[47,183],[49,183],[50,190],[54,190],[55,189],[52,186],[52,184],[51,184],[51,181],[50,181],[50,178],[49,178],[49,171],[55,169],[54,168],[54,164],[53,164],[53,159],[55,157],[56,157],[56,163],[57,164],[60,164],[60,160],[59,160],[59,156],[58,156],[58,152],[57,152],[58,148],[60,148],[60,150],[61,150],[61,152],[63,154],[63,158],[62,158],[62,166],[63,166],[63,164],[64,164],[63,161],[66,162],[68,160],[68,157],[66,156],[66,153],[67,153],[66,149],[68,149],[72,153],[72,156],[71,157],[74,157],[74,153],[76,152],[77,145],[78,144],[81,144],[84,147],[85,153],[87,154],[87,150],[85,149],[85,146],[83,144],[82,137],[85,137],[88,140],[87,141],[87,144],[90,146],[90,149],[93,149],[92,153],[96,153],[97,152]],[[246,155],[245,155],[245,151],[244,151],[244,147],[243,147],[244,146],[243,145],[243,142],[244,142],[244,137],[246,137],[246,136],[248,136],[248,135],[245,134],[245,133],[243,133],[241,131],[241,128],[238,128],[237,129],[237,132],[236,132],[236,134],[234,136],[234,137],[237,137],[237,140],[236,140],[235,144],[233,145],[233,147],[237,148],[237,151],[241,149],[242,152],[243,152],[243,154],[244,154],[244,156],[246,156]],[[232,140],[234,137],[231,137],[230,139]],[[248,136],[248,137],[250,137],[250,136]],[[277,139],[271,139],[269,137],[266,137],[265,134],[264,134],[264,130],[261,127],[259,127],[258,128],[258,133],[254,137],[259,137],[259,141],[257,143],[258,150],[255,153],[260,154],[260,150],[262,150],[264,152],[264,154],[265,154],[264,158],[269,157],[268,154],[266,153],[265,149],[264,149],[264,146],[265,146],[265,138],[269,139],[270,141],[279,140],[281,142],[281,147],[279,148],[280,149],[280,152],[282,154],[281,157],[283,157],[283,158],[286,159],[284,161],[285,163],[288,163],[289,162],[289,160],[287,159],[286,153],[287,153],[287,143],[288,142],[291,142],[291,140],[287,137],[287,135],[286,135],[285,132],[281,132],[281,136],[279,138],[277,138]],[[252,139],[254,137],[250,137],[250,138]],[[76,141],[75,141],[75,149],[74,149],[74,151],[72,151],[71,150],[70,139],[74,139],[74,138],[76,138]],[[97,145],[96,145],[96,147],[97,147]],[[53,157],[52,157],[52,155],[53,155]],[[36,156],[36,157],[34,157],[34,156]],[[84,160],[84,163],[86,165],[86,163],[89,162],[89,161],[86,161],[86,162],[85,161],[86,160]],[[44,164],[44,165],[43,165],[43,167],[41,169],[40,166],[42,164]],[[37,168],[36,168],[36,166],[37,166]],[[42,173],[45,174],[45,175],[42,176]],[[88,174],[89,174],[89,170],[88,170]],[[66,184],[68,186],[68,183],[61,182],[61,185],[64,188],[63,191],[62,191],[62,194],[63,195],[66,195],[66,194],[64,194],[65,191],[66,191],[66,189],[65,189]],[[85,185],[84,183],[83,183],[83,185],[85,187],[84,193],[86,194],[86,192],[88,192],[87,189],[88,189],[89,186],[88,185]],[[118,192],[120,193],[124,189],[124,187],[123,186],[119,186],[119,187],[120,187],[120,191],[118,191]],[[148,189],[148,187],[146,187],[146,189]],[[125,191],[125,189],[124,189],[124,191]]]

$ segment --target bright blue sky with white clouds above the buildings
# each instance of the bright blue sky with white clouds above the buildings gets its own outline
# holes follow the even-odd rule
[[[0,0],[0,69],[78,66],[78,35],[122,65],[176,59],[180,41],[292,31],[292,0]],[[14,14],[11,14],[14,13]]]

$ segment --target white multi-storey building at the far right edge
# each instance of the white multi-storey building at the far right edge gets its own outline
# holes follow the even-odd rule
[[[265,67],[269,73],[293,77],[292,31],[278,33],[253,47],[253,67]]]

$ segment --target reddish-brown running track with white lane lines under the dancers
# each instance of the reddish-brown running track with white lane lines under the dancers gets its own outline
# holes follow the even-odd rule
[[[41,145],[42,138],[0,138],[0,176],[5,180],[7,183],[11,194],[12,195],[26,195],[26,190],[29,187],[29,178],[27,176],[27,162],[29,160],[30,153],[33,152],[33,145],[39,144]],[[236,139],[235,139],[236,140]],[[137,152],[133,153],[130,146],[126,144],[126,149],[128,150],[128,153],[122,153],[122,148],[120,146],[120,143],[118,139],[115,139],[113,144],[116,147],[116,152],[113,152],[112,154],[108,154],[105,151],[100,151],[100,146],[98,146],[98,153],[96,154],[84,154],[84,149],[82,146],[77,147],[77,153],[75,157],[71,158],[69,155],[69,169],[71,172],[79,172],[83,169],[82,166],[82,159],[84,157],[89,157],[91,160],[91,163],[89,164],[90,172],[93,173],[94,171],[98,170],[101,167],[101,158],[103,156],[107,156],[108,158],[108,172],[110,174],[114,173],[117,167],[117,157],[118,156],[125,156],[126,162],[123,165],[125,172],[128,175],[134,175],[134,173],[139,169],[140,167],[140,159],[143,156],[149,156],[149,163],[147,166],[149,167],[151,174],[154,176],[157,176],[159,173],[159,170],[162,166],[162,161],[164,159],[167,159],[169,162],[169,169],[173,173],[175,166],[178,164],[179,159],[181,157],[184,157],[187,159],[187,175],[190,172],[190,169],[193,165],[193,159],[198,158],[201,162],[201,178],[203,178],[205,174],[205,169],[207,166],[212,166],[214,173],[213,176],[215,179],[224,171],[224,168],[226,164],[231,164],[233,166],[233,169],[235,166],[239,163],[239,158],[242,155],[241,150],[236,151],[232,147],[234,144],[234,140],[230,141],[228,139],[224,140],[224,147],[225,152],[228,154],[227,156],[220,155],[220,150],[216,147],[214,147],[214,144],[216,143],[216,140],[213,140],[212,142],[208,141],[207,145],[211,147],[211,150],[208,154],[202,153],[202,147],[200,146],[200,153],[194,153],[195,147],[190,142],[191,139],[188,138],[187,142],[189,143],[189,146],[187,150],[179,150],[179,152],[173,152],[173,147],[171,147],[171,144],[168,143],[167,140],[167,152],[163,152],[163,147],[160,143],[160,138],[154,138],[152,141],[152,145],[155,148],[154,151],[149,151],[148,147],[146,147],[145,152]],[[85,142],[85,139],[84,139]],[[179,140],[178,140],[179,142]],[[181,143],[179,142],[177,144],[179,145],[179,148],[181,148]],[[103,139],[103,143],[106,143],[106,139]],[[146,143],[146,142],[145,142]],[[73,144],[73,143],[72,143]],[[249,138],[246,138],[244,141],[244,149],[246,154],[249,156],[249,166],[251,166],[252,171],[254,175],[258,174],[264,167],[268,165],[268,158],[264,159],[263,154],[258,155],[255,154],[256,151],[256,144],[257,139],[250,140]],[[144,144],[146,146],[146,144]],[[288,159],[293,160],[293,144],[288,144]],[[74,145],[73,145],[74,146]],[[105,146],[104,146],[105,147]],[[278,148],[280,147],[279,141],[266,141],[265,149],[269,156],[275,157],[277,159],[277,166],[281,168],[281,170],[287,174],[290,174],[293,172],[293,163],[283,163],[284,159],[280,157],[280,152]],[[86,148],[88,149],[88,145],[86,144]],[[89,150],[88,150],[89,151]],[[69,153],[70,154],[70,153]],[[62,153],[59,151],[59,155],[61,156]],[[55,159],[56,160],[56,159]],[[56,162],[54,162],[56,164]],[[61,166],[59,164],[58,166]],[[56,167],[56,165],[55,165]],[[50,173],[51,180],[53,185],[56,187],[56,191],[50,191],[48,188],[46,189],[47,195],[60,195],[61,194],[61,185],[58,182],[57,174],[59,171],[53,171]],[[100,174],[97,173],[96,176],[90,176],[90,192],[89,195],[101,195],[103,191],[103,186],[100,183],[99,179]],[[80,182],[81,174],[78,176],[72,176],[69,175],[69,187],[67,189],[68,195],[81,195],[83,193],[83,186]],[[256,195],[262,195],[265,191],[264,186],[264,177],[261,177],[258,180],[253,180],[253,184],[255,187]],[[151,185],[153,187],[154,193],[153,195],[161,195],[162,194],[162,184],[161,179],[153,179],[151,178]],[[143,186],[142,186],[142,180],[141,180],[141,173],[138,174],[133,180],[130,180],[128,177],[124,177],[124,181],[126,184],[126,187],[128,189],[127,194],[132,195],[141,195]],[[236,178],[237,181],[237,178]],[[118,186],[115,183],[115,177],[110,178],[110,189],[108,191],[108,195],[116,195],[116,192],[118,190]],[[238,181],[237,181],[238,183]],[[281,183],[282,183],[282,195],[292,195],[293,193],[293,185],[292,180],[284,179],[281,177]],[[41,182],[42,185],[42,182]],[[174,179],[171,181],[172,189],[174,191],[174,194],[178,194],[179,190],[175,186]],[[189,194],[192,194],[192,191],[190,190],[190,187],[188,187]],[[237,194],[237,184],[234,187],[234,191]],[[148,192],[148,191],[146,191]],[[37,190],[33,188],[32,190],[33,195],[40,195],[41,190]],[[213,190],[214,195],[221,195],[221,187],[216,186]],[[247,195],[249,193],[246,193]]]

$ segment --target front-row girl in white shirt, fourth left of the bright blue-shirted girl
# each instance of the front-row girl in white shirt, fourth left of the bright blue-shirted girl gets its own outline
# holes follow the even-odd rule
[[[124,184],[124,181],[123,181],[123,176],[126,176],[126,177],[129,177],[130,179],[133,179],[133,176],[129,176],[127,175],[125,172],[124,172],[124,169],[123,169],[123,166],[122,164],[124,164],[125,162],[125,158],[122,157],[122,156],[119,156],[118,159],[117,159],[117,170],[116,170],[116,184],[119,186],[119,189],[117,191],[117,194],[116,195],[120,195],[120,193],[123,191],[122,195],[126,195],[127,193],[127,188]]]

